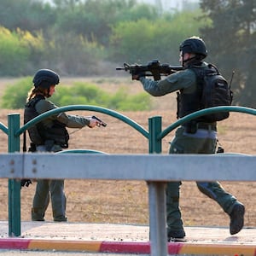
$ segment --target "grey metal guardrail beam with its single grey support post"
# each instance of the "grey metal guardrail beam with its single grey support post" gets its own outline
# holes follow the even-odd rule
[[[73,168],[74,162],[76,168]],[[2,171],[0,177],[146,181],[148,183],[151,255],[153,256],[167,255],[167,181],[181,179],[256,181],[254,172],[256,156],[243,154],[14,153],[0,154],[0,163]],[[61,170],[61,177],[55,170]]]

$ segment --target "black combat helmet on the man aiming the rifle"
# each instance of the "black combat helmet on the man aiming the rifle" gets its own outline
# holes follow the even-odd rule
[[[207,47],[205,42],[198,37],[185,39],[179,46],[179,50],[184,53],[195,53],[201,55],[202,59],[207,57]]]

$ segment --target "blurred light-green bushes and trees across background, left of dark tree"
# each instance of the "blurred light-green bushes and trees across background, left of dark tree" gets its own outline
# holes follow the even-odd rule
[[[113,75],[105,63],[174,62],[180,41],[199,31],[196,15],[137,0],[3,0],[0,75]]]

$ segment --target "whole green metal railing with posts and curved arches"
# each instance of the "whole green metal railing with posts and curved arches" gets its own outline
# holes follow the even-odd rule
[[[8,116],[8,127],[0,123],[0,129],[5,132],[9,137],[9,153],[19,152],[20,151],[20,135],[26,131],[32,125],[37,124],[42,119],[45,119],[51,115],[74,111],[74,110],[87,110],[93,112],[105,113],[113,118],[119,119],[125,122],[127,125],[130,125],[132,128],[140,132],[144,137],[148,139],[148,153],[160,154],[162,151],[162,138],[166,137],[168,133],[177,128],[179,125],[183,125],[183,123],[189,121],[190,119],[195,119],[202,115],[206,115],[209,113],[217,113],[217,112],[240,112],[240,113],[249,113],[256,115],[256,110],[253,108],[245,108],[245,107],[216,107],[216,108],[207,108],[200,110],[195,113],[191,113],[182,119],[178,119],[175,123],[168,126],[166,130],[162,131],[162,122],[160,116],[155,116],[148,119],[148,131],[143,128],[143,126],[138,125],[137,122],[132,119],[126,117],[125,115],[110,110],[108,108],[101,108],[96,106],[89,105],[73,105],[62,108],[55,108],[50,110],[49,112],[42,113],[35,119],[32,119],[26,125],[23,125],[20,128],[20,114],[13,113]],[[103,152],[94,151],[94,150],[67,150],[69,152],[76,153],[94,153],[94,154],[104,154]],[[62,151],[61,154],[65,153]],[[9,179],[9,236],[20,236],[20,182],[15,179]]]

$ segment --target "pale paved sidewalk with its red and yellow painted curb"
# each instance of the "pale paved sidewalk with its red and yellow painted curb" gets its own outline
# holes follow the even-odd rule
[[[169,253],[256,256],[256,228],[230,236],[228,228],[185,227],[186,242],[169,242]],[[21,236],[9,237],[9,224],[0,221],[0,248],[67,250],[101,253],[150,253],[148,226],[21,222]]]

